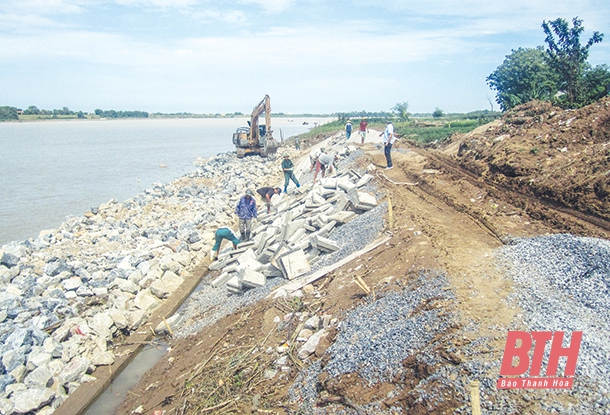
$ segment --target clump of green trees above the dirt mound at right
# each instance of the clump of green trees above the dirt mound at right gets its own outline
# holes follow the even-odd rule
[[[585,45],[582,20],[572,19],[572,27],[558,18],[543,22],[546,49],[512,50],[504,62],[487,77],[496,101],[503,111],[531,100],[549,101],[562,108],[580,108],[608,95],[610,68],[592,67],[587,59],[589,49],[600,43],[602,33],[594,32]]]

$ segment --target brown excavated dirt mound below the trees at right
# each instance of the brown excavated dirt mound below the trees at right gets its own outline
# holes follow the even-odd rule
[[[532,101],[442,151],[490,183],[610,220],[610,97],[579,110]]]

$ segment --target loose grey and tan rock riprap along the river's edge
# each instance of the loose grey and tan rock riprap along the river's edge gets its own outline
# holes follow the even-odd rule
[[[196,164],[171,183],[2,247],[0,413],[51,413],[97,366],[112,364],[113,339],[192,276],[214,231],[233,224],[246,188],[281,176],[278,160],[234,153]]]

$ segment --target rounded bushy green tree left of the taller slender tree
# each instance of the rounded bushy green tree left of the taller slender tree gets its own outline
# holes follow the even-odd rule
[[[496,102],[502,111],[533,99],[550,100],[557,92],[557,81],[542,46],[512,50],[487,77],[489,87],[497,91]]]

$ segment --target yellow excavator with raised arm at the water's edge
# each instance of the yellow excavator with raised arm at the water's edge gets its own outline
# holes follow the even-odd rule
[[[265,113],[265,124],[258,124],[258,117]],[[233,144],[237,151],[237,158],[243,158],[245,155],[258,154],[261,157],[267,157],[269,154],[275,154],[279,147],[278,142],[273,138],[273,130],[271,130],[271,103],[269,95],[258,103],[252,110],[252,119],[248,122],[249,127],[239,127],[233,133]]]

